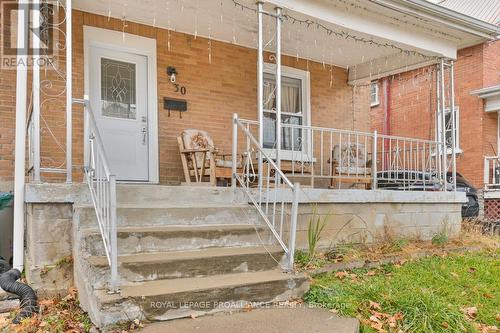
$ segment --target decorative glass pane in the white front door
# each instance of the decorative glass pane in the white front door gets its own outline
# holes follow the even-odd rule
[[[134,63],[101,58],[101,105],[106,117],[136,119]]]

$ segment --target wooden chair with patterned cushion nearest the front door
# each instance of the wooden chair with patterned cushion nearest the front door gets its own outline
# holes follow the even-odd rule
[[[231,180],[231,154],[219,152],[207,132],[186,129],[177,138],[177,142],[187,184],[194,182],[216,186],[218,179]],[[208,182],[205,181],[206,178]]]

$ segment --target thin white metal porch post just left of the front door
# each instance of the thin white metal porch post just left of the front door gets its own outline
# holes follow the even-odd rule
[[[66,0],[66,182],[73,181],[73,42],[72,42],[72,0]]]

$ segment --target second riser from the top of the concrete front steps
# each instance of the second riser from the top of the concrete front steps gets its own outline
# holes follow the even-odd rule
[[[121,255],[140,252],[164,252],[196,250],[211,247],[248,247],[272,243],[270,232],[259,229],[211,230],[193,232],[119,232],[118,253]],[[85,237],[83,251],[93,256],[104,256],[100,234]]]

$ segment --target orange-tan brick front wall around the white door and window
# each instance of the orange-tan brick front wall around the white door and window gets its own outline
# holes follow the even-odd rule
[[[73,95],[83,95],[83,26],[95,26],[122,31],[122,21],[75,11],[73,14]],[[208,61],[208,40],[192,35],[171,32],[168,50],[168,32],[151,26],[127,23],[125,30],[157,41],[158,62],[158,112],[160,182],[177,183],[183,180],[181,162],[177,146],[177,136],[182,129],[198,128],[208,131],[218,148],[230,152],[231,118],[233,112],[247,119],[257,118],[256,108],[256,51],[229,43],[212,41],[212,63]],[[309,70],[311,78],[311,121],[313,125],[324,127],[368,130],[369,89],[367,86],[353,89],[347,85],[347,73],[342,68],[333,67],[333,86],[330,87],[330,68],[322,64],[284,57],[283,65]],[[58,62],[64,68],[64,57]],[[162,109],[163,97],[179,97],[166,74],[167,66],[176,67],[177,80],[187,88],[189,110],[182,119],[172,112],[168,117]],[[11,73],[8,73],[11,75]],[[60,90],[64,82],[57,79],[54,71],[43,73],[43,79],[56,82],[47,89],[44,99],[48,102],[42,108],[42,163],[44,166],[64,167],[65,111],[64,101],[49,101],[49,93]],[[15,87],[12,78],[2,75],[0,85],[0,181],[12,180],[12,156],[14,133]],[[5,95],[5,96],[4,96]],[[4,107],[5,103],[5,107]],[[74,178],[81,180],[83,155],[83,121],[81,107],[73,111],[73,155]],[[45,125],[46,122],[46,125]],[[5,133],[5,134],[4,134]],[[5,142],[5,143],[4,143]],[[60,147],[62,144],[62,147]],[[4,162],[5,161],[5,162]],[[48,175],[42,175],[48,179]],[[52,176],[53,180],[62,180]]]

